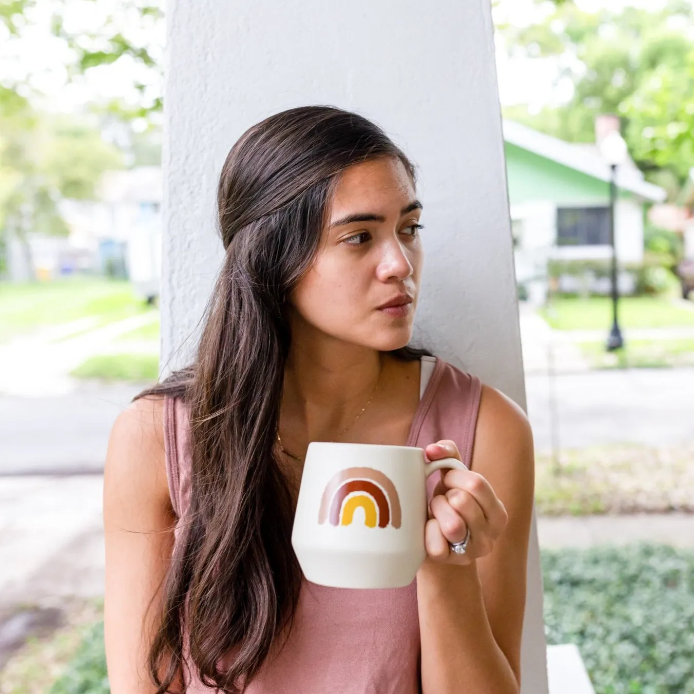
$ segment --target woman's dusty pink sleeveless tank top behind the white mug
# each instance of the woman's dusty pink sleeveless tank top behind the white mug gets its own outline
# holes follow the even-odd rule
[[[439,439],[457,443],[470,467],[480,380],[438,357],[421,357],[420,401],[407,446],[425,448]],[[171,503],[181,518],[190,498],[186,454],[187,412],[164,400],[164,448]],[[428,480],[431,495],[439,480]],[[176,537],[178,539],[178,532]],[[416,694],[419,676],[416,579],[405,588],[348,590],[303,580],[294,625],[284,648],[269,660],[248,694]],[[188,694],[210,694],[196,677]]]

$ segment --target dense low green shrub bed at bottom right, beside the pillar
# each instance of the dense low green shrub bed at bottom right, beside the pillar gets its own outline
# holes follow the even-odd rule
[[[694,694],[694,553],[545,551],[542,564],[548,643],[577,644],[596,694]]]

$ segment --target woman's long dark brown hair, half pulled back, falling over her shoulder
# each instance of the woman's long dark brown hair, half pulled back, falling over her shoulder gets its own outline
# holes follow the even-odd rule
[[[384,157],[403,162],[414,185],[413,164],[381,128],[316,105],[249,128],[224,162],[217,203],[226,256],[196,357],[137,396],[182,398],[190,422],[190,506],[149,653],[158,694],[182,681],[187,664],[208,686],[244,691],[291,626],[301,569],[275,446],[291,344],[285,297],[316,255],[340,174]],[[429,352],[391,354],[409,361]]]

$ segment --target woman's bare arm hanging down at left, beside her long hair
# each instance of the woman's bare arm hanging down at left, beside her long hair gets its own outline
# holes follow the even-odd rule
[[[142,398],[119,414],[108,442],[103,477],[104,629],[112,694],[156,691],[147,657],[176,521],[162,432],[162,400]]]

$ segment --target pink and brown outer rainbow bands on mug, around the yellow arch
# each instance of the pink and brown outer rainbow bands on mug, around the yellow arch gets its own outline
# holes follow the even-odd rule
[[[364,492],[378,505],[378,525],[400,527],[402,511],[395,485],[380,470],[374,468],[346,468],[335,473],[325,485],[318,522],[330,520],[332,525],[340,523],[340,509],[345,498],[354,492]]]

